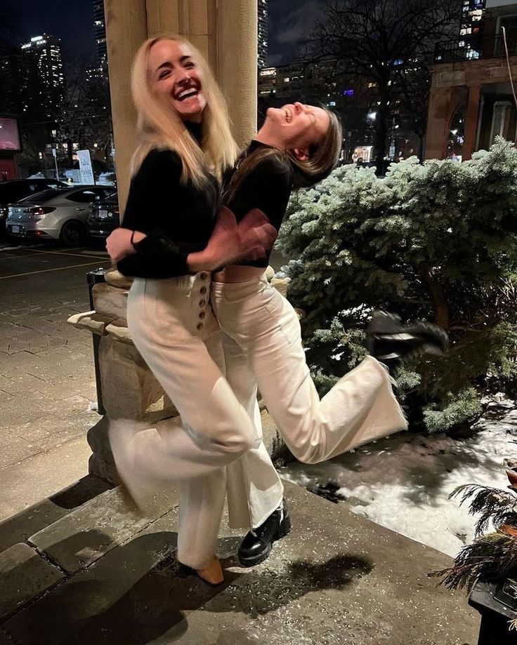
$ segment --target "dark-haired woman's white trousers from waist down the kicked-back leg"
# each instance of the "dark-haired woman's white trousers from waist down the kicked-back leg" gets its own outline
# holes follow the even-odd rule
[[[221,330],[241,348],[270,415],[300,461],[318,463],[407,429],[388,372],[373,357],[320,400],[296,312],[266,279],[212,282],[211,302]]]

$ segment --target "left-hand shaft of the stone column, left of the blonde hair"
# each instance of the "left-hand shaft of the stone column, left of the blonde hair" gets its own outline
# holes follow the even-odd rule
[[[145,0],[104,0],[107,60],[119,206],[124,212],[129,163],[136,143],[136,112],[131,99],[131,61],[148,37]]]

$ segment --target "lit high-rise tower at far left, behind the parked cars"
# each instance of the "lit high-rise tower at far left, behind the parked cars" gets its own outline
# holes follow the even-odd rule
[[[41,103],[48,115],[56,114],[63,104],[63,60],[61,41],[49,34],[34,36],[22,45],[22,52],[35,60],[41,81]]]

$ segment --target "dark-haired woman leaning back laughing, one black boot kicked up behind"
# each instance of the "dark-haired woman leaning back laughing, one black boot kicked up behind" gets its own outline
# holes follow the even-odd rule
[[[223,201],[237,222],[258,208],[279,230],[292,188],[313,185],[329,175],[341,152],[341,137],[338,119],[323,107],[296,102],[268,109],[233,175],[225,173]],[[130,227],[126,220],[124,225]],[[136,239],[140,229],[134,228]],[[124,262],[139,253],[126,234],[115,231],[109,248],[114,260],[124,258],[119,262],[122,272]],[[217,242],[211,238],[211,244]],[[223,332],[226,379],[256,427],[255,445],[225,467],[230,526],[251,528],[239,549],[244,566],[268,557],[273,542],[290,528],[282,482],[262,441],[257,385],[287,446],[306,463],[318,463],[407,427],[388,371],[373,355],[320,400],[306,365],[296,312],[264,277],[268,253],[226,263],[211,282],[211,306]],[[377,340],[382,343],[372,344],[372,354],[401,357],[436,349],[442,342],[432,326],[419,328],[422,334],[417,335],[407,333],[393,318],[389,322],[388,329],[379,326]],[[198,403],[199,408],[205,405],[204,400]],[[145,453],[159,459],[163,444],[141,434]],[[155,481],[167,484],[169,479],[161,465],[155,469]]]

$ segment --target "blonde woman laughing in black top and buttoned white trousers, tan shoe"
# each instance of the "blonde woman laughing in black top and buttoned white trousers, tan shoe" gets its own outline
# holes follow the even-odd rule
[[[156,467],[179,481],[178,559],[212,583],[225,498],[224,466],[256,446],[246,409],[223,378],[210,272],[260,257],[275,230],[263,215],[218,213],[218,180],[235,161],[225,103],[202,56],[176,36],[149,39],[133,63],[139,145],[119,238],[135,251],[119,270],[135,277],[127,305],[131,338],[178,408],[183,427],[162,440],[112,421],[117,468],[129,483]],[[138,233],[133,232],[138,230]],[[112,250],[113,239],[107,247]],[[146,441],[159,441],[159,454]]]

